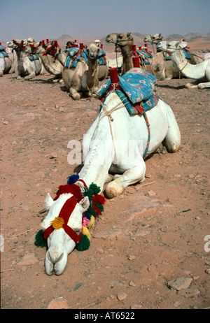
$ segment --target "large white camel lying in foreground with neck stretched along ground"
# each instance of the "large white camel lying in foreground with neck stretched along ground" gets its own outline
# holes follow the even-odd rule
[[[132,69],[130,72],[139,73],[140,70]],[[162,142],[169,152],[179,150],[181,146],[179,127],[167,103],[159,99],[157,106],[148,110],[146,115],[151,129],[146,157],[155,152]],[[84,182],[87,187],[94,182],[100,187],[100,192],[103,192],[104,183],[111,180],[109,171],[116,175],[104,191],[108,198],[118,196],[128,185],[143,182],[146,173],[143,156],[147,145],[148,127],[144,116],[130,115],[118,94],[115,91],[109,92],[97,120],[94,121],[83,140],[85,162],[77,182],[81,190]],[[50,227],[50,222],[57,217],[64,203],[71,197],[72,194],[61,194],[56,201],[53,201],[48,194],[45,206],[49,211],[41,223],[43,231]],[[71,207],[73,211],[68,226],[76,234],[79,234],[82,229],[82,214],[88,206],[89,201],[85,197]],[[51,275],[53,271],[60,275],[66,266],[68,254],[76,247],[76,242],[62,228],[52,231],[47,242],[45,271],[48,275]]]

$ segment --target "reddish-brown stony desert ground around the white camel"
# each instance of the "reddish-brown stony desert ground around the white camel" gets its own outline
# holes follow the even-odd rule
[[[47,192],[54,197],[78,170],[68,164],[67,144],[82,141],[99,101],[73,101],[48,73],[16,77],[0,78],[1,308],[208,308],[209,89],[158,81],[178,120],[181,150],[149,157],[146,181],[106,201],[89,250],[74,250],[64,273],[48,276],[46,251],[34,245],[40,210]],[[181,277],[190,286],[169,288]]]

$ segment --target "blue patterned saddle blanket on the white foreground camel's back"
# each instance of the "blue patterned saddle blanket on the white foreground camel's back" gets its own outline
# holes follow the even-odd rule
[[[116,94],[125,104],[132,115],[151,110],[158,103],[158,96],[154,93],[156,78],[144,69],[130,69],[122,77],[118,76],[119,85]],[[104,82],[97,94],[104,97],[112,89],[111,79]]]

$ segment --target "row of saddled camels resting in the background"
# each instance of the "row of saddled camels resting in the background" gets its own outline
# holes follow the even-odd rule
[[[55,78],[62,78],[66,89],[73,99],[80,99],[80,94],[94,95],[97,92],[97,86],[100,80],[104,80],[109,71],[109,67],[120,66],[122,64],[122,74],[133,67],[131,52],[134,40],[131,33],[109,34],[106,36],[106,42],[116,45],[116,52],[121,52],[122,56],[116,59],[107,59],[106,66],[97,64],[97,44],[93,43],[87,46],[88,62],[81,59],[76,68],[66,68],[65,61],[67,53],[59,48],[57,41],[52,41],[46,45],[42,42],[35,43],[33,38],[25,41],[10,41],[8,47],[13,48],[18,58],[18,78],[25,76],[25,80],[30,80],[34,76],[43,73],[43,66],[48,73]],[[183,56],[183,48],[187,43],[184,41],[162,42],[161,34],[146,36],[145,43],[151,43],[156,46],[157,53],[153,57],[148,57],[148,65],[142,66],[152,73],[158,80],[179,78],[183,75],[186,78],[193,78],[195,82],[187,83],[186,87],[198,87],[199,89],[209,87],[209,60],[204,61],[201,57],[191,53],[190,59]],[[21,47],[22,44],[22,47]],[[39,61],[30,61],[27,59],[27,53],[36,48],[36,54]],[[50,51],[50,48],[52,49]],[[22,49],[22,50],[20,50]],[[48,55],[43,55],[48,51]],[[95,55],[92,55],[94,52]],[[172,59],[166,59],[164,52],[168,52]],[[107,57],[106,57],[107,58]]]

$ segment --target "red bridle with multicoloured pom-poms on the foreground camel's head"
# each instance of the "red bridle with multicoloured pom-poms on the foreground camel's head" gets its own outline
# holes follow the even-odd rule
[[[90,187],[87,188],[87,185],[82,179],[79,179],[79,175],[71,175],[67,178],[67,184],[59,186],[57,195],[55,196],[54,201],[56,201],[61,194],[71,193],[69,199],[66,200],[62,209],[59,212],[59,215],[55,217],[54,220],[50,222],[50,227],[43,230],[39,230],[35,236],[35,244],[40,247],[45,247],[47,245],[47,238],[50,234],[57,229],[64,229],[66,234],[76,243],[76,249],[79,251],[87,250],[90,247],[90,232],[88,229],[92,229],[95,223],[95,217],[104,211],[105,198],[100,192],[100,187],[96,184],[90,184]],[[84,185],[84,192],[81,192],[81,189],[75,183],[79,181]],[[76,207],[76,204],[79,203],[85,196],[88,197],[90,201],[90,206],[83,213],[82,220],[82,230],[79,234],[76,233],[71,227],[69,227],[69,217]]]

